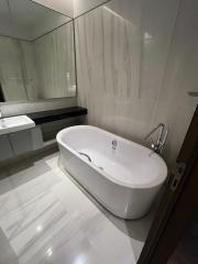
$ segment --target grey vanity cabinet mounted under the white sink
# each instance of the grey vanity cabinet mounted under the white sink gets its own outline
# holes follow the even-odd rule
[[[0,161],[36,151],[43,146],[40,127],[0,136]]]

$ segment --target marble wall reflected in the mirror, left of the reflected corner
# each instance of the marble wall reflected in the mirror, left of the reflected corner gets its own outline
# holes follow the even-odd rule
[[[0,36],[0,84],[6,101],[37,98],[38,76],[32,42]]]

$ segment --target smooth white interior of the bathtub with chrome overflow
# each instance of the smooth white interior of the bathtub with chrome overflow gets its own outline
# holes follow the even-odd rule
[[[151,150],[90,125],[78,125],[61,133],[62,144],[114,179],[134,187],[163,184],[164,161]],[[116,140],[117,148],[112,148]]]

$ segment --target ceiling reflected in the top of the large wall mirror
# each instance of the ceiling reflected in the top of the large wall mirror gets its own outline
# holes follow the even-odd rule
[[[70,20],[30,0],[0,1],[0,35],[32,41]]]

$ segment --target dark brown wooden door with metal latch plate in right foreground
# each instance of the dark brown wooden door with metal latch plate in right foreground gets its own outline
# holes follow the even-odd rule
[[[198,108],[138,264],[167,264],[198,209]]]

